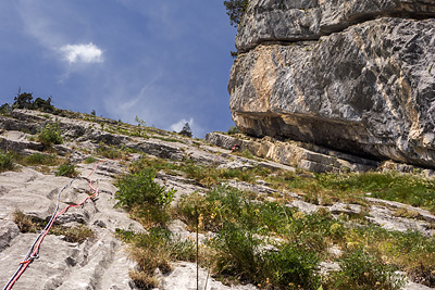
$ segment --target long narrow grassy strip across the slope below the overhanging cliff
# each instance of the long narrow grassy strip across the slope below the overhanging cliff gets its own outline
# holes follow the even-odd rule
[[[366,205],[365,197],[370,193],[373,198],[397,201],[435,213],[435,180],[412,174],[396,172],[307,174],[271,171],[260,166],[246,169],[216,168],[198,165],[192,160],[175,163],[161,159],[142,159],[132,164],[130,169],[136,171],[144,166],[167,174],[182,173],[184,177],[207,187],[228,179],[256,184],[256,180],[261,178],[274,189],[299,192],[304,196],[306,201],[321,205],[330,205],[337,201]]]

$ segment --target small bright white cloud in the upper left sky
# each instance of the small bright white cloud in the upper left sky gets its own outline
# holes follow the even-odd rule
[[[60,48],[64,58],[70,63],[101,63],[102,50],[92,42],[88,45],[66,45]]]

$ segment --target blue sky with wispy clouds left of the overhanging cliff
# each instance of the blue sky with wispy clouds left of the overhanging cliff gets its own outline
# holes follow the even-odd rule
[[[21,88],[132,124],[226,131],[235,34],[221,0],[0,1],[0,104]]]

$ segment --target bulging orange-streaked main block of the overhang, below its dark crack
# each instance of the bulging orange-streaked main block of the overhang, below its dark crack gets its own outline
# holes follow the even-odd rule
[[[253,136],[434,167],[434,66],[435,20],[382,17],[241,54],[231,72],[231,110]]]

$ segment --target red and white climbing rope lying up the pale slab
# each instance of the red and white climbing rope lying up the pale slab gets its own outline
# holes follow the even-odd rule
[[[25,260],[24,260],[23,262],[20,262],[18,270],[15,272],[15,274],[13,275],[13,278],[11,278],[11,279],[9,280],[9,282],[7,283],[7,286],[4,286],[3,290],[10,290],[10,289],[12,289],[13,285],[18,280],[18,278],[22,276],[22,274],[26,270],[26,268],[28,267],[28,265],[30,265],[30,263],[32,263],[35,259],[39,257],[39,255],[38,255],[38,253],[39,253],[39,248],[40,248],[40,245],[41,245],[44,239],[45,239],[46,236],[48,235],[49,230],[50,230],[51,227],[53,226],[55,219],[57,219],[61,214],[65,213],[70,207],[82,206],[83,204],[85,204],[85,202],[86,202],[87,200],[94,199],[94,198],[96,198],[96,197],[98,196],[98,188],[94,188],[94,186],[92,186],[94,180],[90,179],[89,177],[90,177],[90,176],[94,174],[94,172],[98,168],[98,166],[100,165],[100,163],[104,163],[104,162],[108,162],[108,161],[112,161],[112,162],[113,162],[113,161],[119,161],[119,160],[103,160],[103,161],[100,161],[100,162],[97,163],[97,165],[92,168],[92,171],[88,174],[88,176],[86,176],[86,178],[89,179],[89,187],[90,187],[90,189],[94,191],[94,194],[87,197],[87,198],[86,198],[85,200],[83,200],[79,204],[76,204],[76,205],[67,205],[65,209],[63,209],[62,211],[60,211],[59,213],[57,213],[57,214],[50,219],[50,223],[46,226],[46,228],[44,229],[44,232],[37,238],[37,241],[34,242],[34,245],[32,245],[32,248],[30,248],[30,250],[33,249],[33,250],[32,250],[32,254],[30,254],[30,255],[27,254],[26,257],[25,257]],[[109,167],[108,167],[108,169],[109,169]],[[74,180],[75,180],[75,179],[73,179],[72,181],[74,181]],[[69,185],[71,185],[72,181],[70,181]],[[67,185],[66,185],[66,186],[67,186]],[[66,187],[66,186],[65,186],[65,187]],[[65,187],[62,188],[62,190],[65,189]],[[62,190],[61,190],[61,191],[62,191]],[[60,192],[61,192],[61,191],[60,191]],[[60,193],[60,192],[59,192],[59,193]],[[58,202],[59,202],[59,198],[58,198]],[[58,206],[57,206],[57,210],[58,210]],[[55,210],[55,211],[57,211],[57,210]],[[54,212],[54,213],[55,213],[55,212]]]

